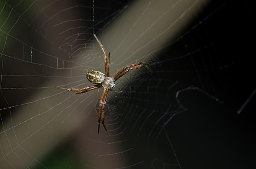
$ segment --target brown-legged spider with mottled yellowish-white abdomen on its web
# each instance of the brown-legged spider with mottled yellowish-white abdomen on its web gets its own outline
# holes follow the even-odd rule
[[[113,77],[109,77],[110,52],[109,52],[109,57],[107,57],[103,45],[101,44],[101,42],[97,38],[96,34],[93,34],[93,35],[96,38],[97,42],[99,43],[99,46],[101,46],[101,50],[102,50],[103,55],[104,55],[105,74],[103,74],[102,72],[96,71],[96,70],[92,70],[92,71],[88,72],[86,74],[86,78],[90,82],[96,84],[96,85],[93,85],[93,86],[88,86],[88,87],[84,87],[84,88],[64,88],[64,87],[58,87],[58,88],[63,89],[63,90],[68,90],[68,91],[75,91],[75,92],[77,92],[76,94],[83,94],[85,92],[94,90],[96,88],[101,88],[101,87],[104,88],[104,90],[102,92],[102,95],[101,95],[101,100],[99,100],[99,115],[98,115],[98,134],[99,134],[100,123],[102,123],[102,126],[107,131],[107,128],[105,127],[105,124],[104,124],[104,108],[105,108],[105,104],[106,104],[106,100],[107,100],[107,94],[108,94],[109,90],[112,90],[115,87],[114,82],[117,79],[119,79],[120,77],[122,77],[124,74],[128,73],[130,70],[137,69],[137,68],[142,68],[144,66],[147,69],[149,69],[149,67],[147,66],[146,63],[138,62],[138,63],[135,63],[135,64],[125,66],[123,69],[119,70],[119,72],[116,73]]]

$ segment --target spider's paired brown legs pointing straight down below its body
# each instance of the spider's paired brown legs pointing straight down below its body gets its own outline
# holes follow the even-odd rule
[[[99,100],[98,134],[99,134],[99,124],[100,123],[102,123],[103,127],[107,131],[107,128],[104,125],[104,108],[105,108],[108,92],[109,92],[109,90],[107,88],[104,88],[102,95],[101,95],[101,100]]]

